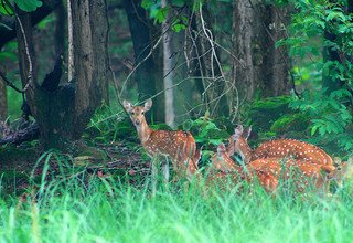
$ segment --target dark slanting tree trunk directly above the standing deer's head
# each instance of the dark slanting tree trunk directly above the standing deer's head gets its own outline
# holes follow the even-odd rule
[[[139,101],[141,102],[157,93],[154,82],[160,82],[157,81],[157,65],[153,55],[149,55],[153,42],[150,39],[151,31],[148,27],[149,21],[147,19],[147,12],[141,7],[141,0],[124,0],[124,4],[133,44],[135,63],[138,65],[142,62],[135,74]],[[153,119],[158,122],[164,120],[164,113],[161,105],[162,104],[158,102],[154,103],[152,107]]]

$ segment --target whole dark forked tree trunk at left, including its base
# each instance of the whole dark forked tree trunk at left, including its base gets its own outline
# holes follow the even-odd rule
[[[108,77],[108,21],[106,0],[72,1],[73,82],[60,85],[61,59],[41,85],[34,83],[26,96],[40,125],[45,148],[67,149],[67,141],[78,139],[106,93]],[[29,14],[21,14],[32,50]],[[19,29],[17,33],[20,33]],[[20,68],[25,84],[29,72],[23,36],[18,34]],[[33,53],[32,53],[33,55]]]

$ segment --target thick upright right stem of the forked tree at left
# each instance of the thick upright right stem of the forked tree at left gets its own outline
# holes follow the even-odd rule
[[[74,81],[77,82],[73,138],[79,138],[107,94],[109,76],[106,0],[72,1]]]

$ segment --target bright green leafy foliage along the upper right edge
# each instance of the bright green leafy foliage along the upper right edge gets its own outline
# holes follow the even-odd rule
[[[346,11],[349,3],[343,0],[289,2],[297,11],[288,27],[289,36],[277,42],[277,46],[287,45],[291,57],[301,60],[302,66],[299,64],[293,70],[296,84],[308,87],[291,107],[310,116],[311,135],[323,138],[344,134],[353,118],[353,17]],[[321,53],[329,51],[339,56],[323,59]],[[307,76],[301,75],[301,68],[308,71],[308,66]],[[339,144],[345,150],[353,148],[350,142]]]

